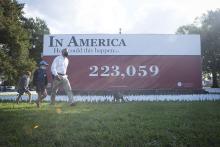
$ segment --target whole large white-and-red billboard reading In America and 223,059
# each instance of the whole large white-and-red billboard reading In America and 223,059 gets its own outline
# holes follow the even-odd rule
[[[50,65],[63,48],[69,49],[67,74],[73,90],[201,89],[198,35],[44,36],[43,58]]]

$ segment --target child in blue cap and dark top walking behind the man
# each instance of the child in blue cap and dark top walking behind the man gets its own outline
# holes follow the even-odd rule
[[[37,107],[40,107],[41,101],[47,96],[47,69],[48,63],[45,61],[41,61],[39,63],[39,68],[35,70],[33,77],[33,84],[36,86],[36,92],[38,94],[38,98],[36,100]]]

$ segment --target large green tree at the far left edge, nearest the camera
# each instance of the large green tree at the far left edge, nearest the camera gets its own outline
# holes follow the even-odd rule
[[[35,62],[29,58],[29,36],[23,26],[24,5],[15,0],[0,1],[0,74],[15,84],[24,71],[32,71]]]

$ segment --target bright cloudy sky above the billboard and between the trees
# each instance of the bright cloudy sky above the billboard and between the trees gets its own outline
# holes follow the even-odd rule
[[[52,34],[174,34],[220,0],[18,0],[26,17],[45,20]]]

